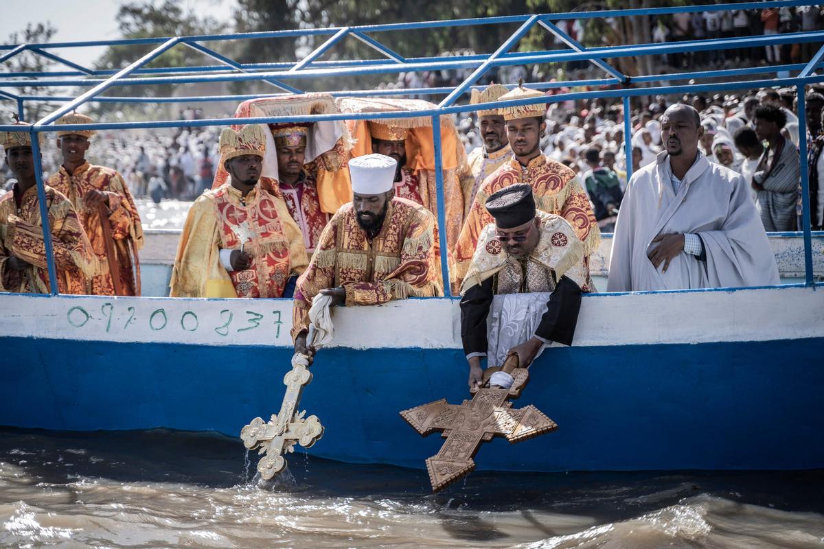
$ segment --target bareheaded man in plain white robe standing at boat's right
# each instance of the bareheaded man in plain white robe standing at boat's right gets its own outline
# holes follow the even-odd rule
[[[698,150],[698,111],[672,105],[661,117],[661,132],[664,151],[626,188],[607,291],[778,284],[749,186]]]

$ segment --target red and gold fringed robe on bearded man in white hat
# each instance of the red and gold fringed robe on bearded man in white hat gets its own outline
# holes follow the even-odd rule
[[[309,326],[311,302],[325,288],[343,286],[346,305],[381,305],[407,297],[442,295],[434,249],[434,216],[393,198],[381,232],[369,240],[352,202],[323,230],[306,272],[297,279],[292,337]]]

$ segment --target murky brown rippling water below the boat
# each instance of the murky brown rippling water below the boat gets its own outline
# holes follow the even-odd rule
[[[2,547],[824,547],[824,472],[473,473],[295,454],[247,480],[239,440],[0,430]]]

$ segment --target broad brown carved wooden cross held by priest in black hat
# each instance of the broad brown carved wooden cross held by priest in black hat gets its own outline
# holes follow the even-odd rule
[[[488,369],[491,370],[491,369]],[[400,412],[400,415],[421,435],[442,430],[446,439],[441,451],[426,460],[429,482],[439,491],[465,477],[475,469],[472,459],[482,442],[503,436],[516,443],[548,433],[558,426],[531,404],[512,409],[510,397],[517,397],[527,381],[527,370],[513,370],[512,388],[480,388],[472,400],[461,405],[450,404],[446,398]],[[488,379],[488,374],[485,375]]]

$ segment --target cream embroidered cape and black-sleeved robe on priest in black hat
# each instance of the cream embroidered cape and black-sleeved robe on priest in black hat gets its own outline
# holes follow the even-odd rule
[[[508,337],[489,334],[497,347],[489,365],[502,365],[509,348],[532,334],[544,342],[572,344],[585,277],[583,243],[563,217],[544,212],[538,216],[541,238],[526,258],[512,258],[503,250],[494,223],[481,231],[461,288],[461,340],[467,357],[487,354],[487,319],[495,295],[551,292],[537,326],[528,327],[530,332],[523,329],[530,323],[523,317],[503,322]],[[502,340],[505,345],[499,345]]]

